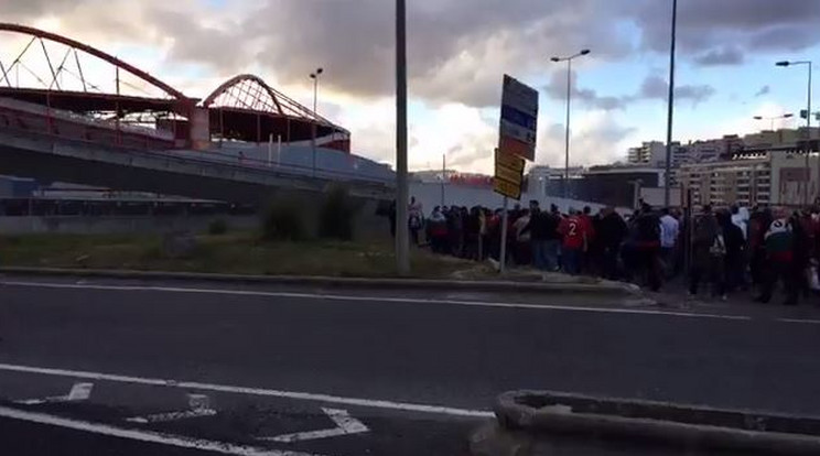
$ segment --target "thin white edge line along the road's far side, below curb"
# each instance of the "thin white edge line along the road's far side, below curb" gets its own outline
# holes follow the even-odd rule
[[[267,292],[251,290],[217,290],[217,289],[193,289],[179,286],[152,286],[152,285],[93,285],[93,284],[72,284],[72,283],[50,283],[50,282],[19,282],[4,281],[0,282],[7,286],[21,286],[34,289],[76,289],[76,290],[98,290],[98,291],[144,291],[162,293],[195,293],[195,294],[220,294],[235,296],[267,296],[267,297],[290,297],[301,300],[326,300],[326,301],[345,301],[345,302],[378,302],[396,304],[444,304],[460,305],[468,307],[497,307],[497,308],[527,308],[538,311],[567,311],[567,312],[587,312],[598,314],[627,314],[627,315],[659,315],[677,316],[687,318],[706,318],[706,319],[727,319],[727,321],[751,321],[752,317],[745,315],[716,315],[699,314],[692,312],[672,312],[672,311],[654,311],[646,308],[624,308],[624,307],[584,307],[573,305],[553,305],[553,304],[526,304],[526,303],[505,303],[492,301],[462,301],[462,300],[433,300],[423,297],[387,297],[387,296],[357,296],[322,293],[292,293],[292,292]]]

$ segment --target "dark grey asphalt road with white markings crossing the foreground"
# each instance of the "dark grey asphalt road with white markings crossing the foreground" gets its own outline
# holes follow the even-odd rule
[[[1,283],[13,454],[461,455],[521,388],[820,414],[808,307]],[[69,400],[77,383],[90,392]]]

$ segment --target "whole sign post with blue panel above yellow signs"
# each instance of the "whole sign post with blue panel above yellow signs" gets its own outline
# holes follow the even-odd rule
[[[538,90],[504,75],[498,149],[495,152],[493,189],[504,196],[499,271],[507,263],[507,207],[509,198],[521,199],[526,160],[536,159]]]

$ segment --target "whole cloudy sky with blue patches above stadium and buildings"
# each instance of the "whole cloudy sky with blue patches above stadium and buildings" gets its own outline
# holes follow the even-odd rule
[[[490,171],[505,73],[539,89],[537,161],[561,165],[567,74],[550,57],[586,47],[572,75],[572,163],[612,162],[666,137],[671,0],[407,2],[412,169],[446,154],[461,170]],[[2,21],[89,43],[188,96],[255,73],[310,105],[308,75],[322,66],[320,113],[353,131],[356,153],[385,162],[395,154],[392,14],[392,0],[0,1]],[[2,40],[0,52],[14,45]],[[780,59],[820,63],[820,0],[679,0],[675,139],[748,133],[769,127],[755,115],[797,112],[806,70],[775,67]]]

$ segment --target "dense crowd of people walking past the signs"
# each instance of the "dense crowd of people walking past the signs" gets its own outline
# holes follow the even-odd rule
[[[436,206],[425,218],[414,199],[409,208],[416,245],[423,235],[433,252],[464,259],[498,261],[501,225],[501,209]],[[561,213],[532,200],[509,210],[506,232],[510,264],[630,281],[652,291],[682,278],[691,295],[708,285],[716,298],[754,291],[757,301],[769,302],[783,282],[790,305],[820,289],[820,204],[799,210],[706,205],[689,217],[641,204],[624,217],[612,207]]]

